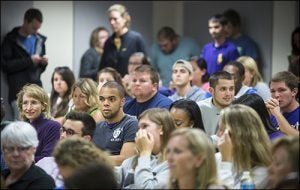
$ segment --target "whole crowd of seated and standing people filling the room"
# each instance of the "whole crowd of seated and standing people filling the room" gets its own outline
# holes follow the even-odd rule
[[[286,69],[264,78],[232,8],[202,47],[163,26],[149,55],[124,5],[106,14],[112,33],[95,26],[79,73],[60,63],[49,91],[41,11],[4,37],[1,189],[240,189],[245,173],[299,189],[299,26]]]

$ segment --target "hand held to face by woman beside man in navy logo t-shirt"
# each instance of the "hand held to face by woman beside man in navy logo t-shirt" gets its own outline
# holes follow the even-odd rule
[[[154,147],[154,138],[145,129],[139,129],[135,137],[136,149],[141,156],[150,156]]]

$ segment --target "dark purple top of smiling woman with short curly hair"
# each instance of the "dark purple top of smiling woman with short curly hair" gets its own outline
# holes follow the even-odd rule
[[[43,114],[30,124],[38,133],[39,145],[35,152],[35,162],[37,162],[43,157],[51,156],[60,137],[60,124],[57,121],[46,119]]]

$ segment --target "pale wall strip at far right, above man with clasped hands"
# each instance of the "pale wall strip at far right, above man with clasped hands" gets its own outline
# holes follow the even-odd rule
[[[296,22],[299,22],[296,17],[299,14],[295,14],[296,9],[299,9],[299,3],[296,1],[274,1],[272,74],[288,69],[287,56],[291,52],[291,34],[296,28]]]

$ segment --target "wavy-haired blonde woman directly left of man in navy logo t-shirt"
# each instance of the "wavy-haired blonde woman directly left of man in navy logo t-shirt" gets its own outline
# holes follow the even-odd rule
[[[96,123],[104,121],[104,117],[99,109],[100,100],[97,90],[97,83],[90,78],[80,78],[72,88],[71,110],[87,112],[92,116]]]

